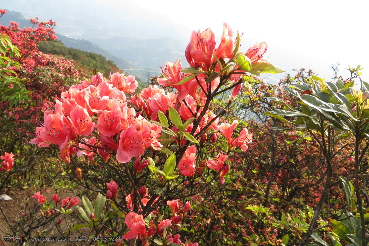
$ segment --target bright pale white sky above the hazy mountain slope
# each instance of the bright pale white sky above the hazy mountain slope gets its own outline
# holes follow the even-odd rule
[[[211,27],[216,36],[227,22],[244,32],[242,48],[267,42],[272,63],[286,71],[306,67],[330,79],[332,63],[341,63],[339,74],[344,77],[350,75],[345,70],[348,65],[361,64],[362,78],[369,80],[369,4],[365,1],[140,0],[135,4],[191,30]]]

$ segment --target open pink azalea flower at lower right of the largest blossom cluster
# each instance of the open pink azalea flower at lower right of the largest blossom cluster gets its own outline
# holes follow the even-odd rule
[[[134,126],[130,126],[120,134],[117,157],[118,162],[127,163],[132,157],[140,156],[145,151],[142,133],[138,132]]]

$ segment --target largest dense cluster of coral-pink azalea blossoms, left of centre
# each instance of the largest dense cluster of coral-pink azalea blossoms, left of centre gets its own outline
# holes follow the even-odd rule
[[[125,93],[136,88],[134,76],[119,73],[112,74],[110,80],[98,73],[71,86],[56,100],[54,110],[45,110],[44,125],[36,128],[37,138],[31,143],[39,147],[59,145],[60,156],[68,163],[75,151],[77,156],[90,159],[98,153],[104,160],[114,152],[118,162],[127,163],[145,148],[161,149],[156,140],[161,127],[127,107]],[[94,130],[99,137],[86,138]]]

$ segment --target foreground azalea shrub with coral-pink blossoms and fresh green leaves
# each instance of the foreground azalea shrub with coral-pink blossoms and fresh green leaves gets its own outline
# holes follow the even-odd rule
[[[97,73],[70,86],[54,108],[44,111],[44,123],[31,140],[39,147],[58,145],[60,157],[76,166],[76,181],[83,181],[85,187],[96,186],[100,194],[107,195],[110,206],[125,216],[128,231],[122,239],[130,240],[131,245],[137,238],[144,245],[151,238],[158,245],[182,243],[178,234],[167,232],[181,228],[190,207],[185,198],[210,188],[218,177],[225,183],[231,169],[228,154],[238,147],[246,151],[251,143],[252,134],[246,128],[237,135],[234,132],[238,121],[221,123],[220,117],[247,83],[247,73],[282,72],[265,57],[265,43],[241,52],[240,36],[227,24],[217,48],[214,37],[210,28],[194,31],[186,48],[191,67],[182,68],[180,60],[167,62],[164,77],[158,79],[163,88],[149,86],[133,94],[135,77],[119,73],[109,79]],[[211,110],[213,100],[230,91],[226,107]],[[221,135],[227,144],[222,143]],[[103,170],[77,164],[74,153],[99,163]],[[118,178],[116,172],[126,178]],[[104,177],[108,176],[115,178],[107,183]],[[178,213],[179,202],[182,213]],[[173,216],[157,219],[158,208],[165,204]],[[125,231],[123,225],[121,230]]]

